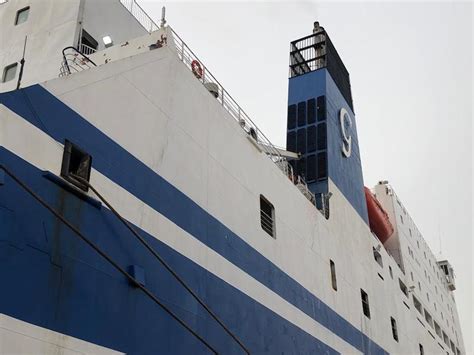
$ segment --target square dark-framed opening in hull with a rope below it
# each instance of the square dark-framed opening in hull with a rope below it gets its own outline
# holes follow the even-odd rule
[[[81,190],[87,191],[86,184],[75,179],[78,176],[89,181],[91,175],[92,157],[81,148],[66,140],[64,143],[61,176]]]

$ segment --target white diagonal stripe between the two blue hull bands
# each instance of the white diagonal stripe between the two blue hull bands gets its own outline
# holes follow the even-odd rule
[[[62,145],[3,105],[0,105],[0,129],[0,132],[14,133],[1,135],[1,146],[40,170],[49,170],[59,174],[63,154]],[[24,144],[14,139],[18,136],[29,137],[29,144],[25,147]],[[43,154],[41,155],[37,154],[36,149],[34,149],[38,146],[42,147]],[[119,212],[131,223],[139,226],[178,253],[340,353],[360,353],[304,312],[95,169],[91,171],[91,184],[109,200],[112,206],[120,206],[118,207]],[[89,195],[93,196],[91,192],[89,192]],[[29,333],[25,332],[25,334]],[[16,340],[14,337],[7,337],[6,346],[16,346]]]

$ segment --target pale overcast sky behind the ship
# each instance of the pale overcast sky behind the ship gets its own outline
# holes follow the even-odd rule
[[[270,140],[285,146],[289,42],[319,21],[350,76],[367,186],[388,180],[456,273],[473,353],[473,4],[144,1]]]

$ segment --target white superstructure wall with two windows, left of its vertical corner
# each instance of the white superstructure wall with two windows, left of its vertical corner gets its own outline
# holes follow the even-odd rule
[[[22,87],[56,78],[62,49],[77,41],[81,0],[15,0],[0,6],[0,75],[5,66],[18,63],[16,77],[0,80],[0,92],[16,88],[25,38],[25,67]],[[30,6],[26,22],[15,26],[16,12]]]

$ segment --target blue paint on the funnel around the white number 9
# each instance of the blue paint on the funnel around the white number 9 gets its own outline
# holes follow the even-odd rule
[[[288,105],[297,104],[298,102],[322,95],[326,96],[327,109],[328,177],[344,194],[361,218],[368,223],[359,140],[354,113],[327,69],[319,69],[290,79]],[[345,108],[352,119],[352,128],[347,131],[352,136],[352,153],[349,158],[343,156],[341,152],[342,135],[339,122],[339,111],[341,108]],[[315,193],[328,191],[327,181],[310,183],[309,187]]]

